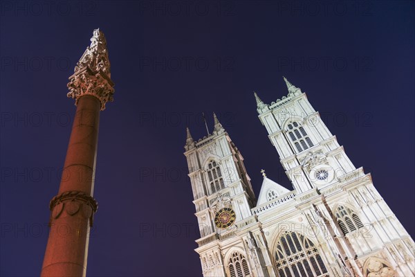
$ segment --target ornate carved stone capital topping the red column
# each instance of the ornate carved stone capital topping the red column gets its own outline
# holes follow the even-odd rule
[[[114,83],[107,51],[107,40],[100,29],[93,30],[91,45],[75,66],[75,73],[69,77],[68,97],[77,101],[84,95],[95,96],[101,102],[101,110],[107,102],[113,101]]]

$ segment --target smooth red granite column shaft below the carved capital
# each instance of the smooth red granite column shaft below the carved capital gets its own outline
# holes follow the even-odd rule
[[[50,233],[42,276],[85,276],[98,144],[100,101],[77,102],[59,193],[50,202]]]

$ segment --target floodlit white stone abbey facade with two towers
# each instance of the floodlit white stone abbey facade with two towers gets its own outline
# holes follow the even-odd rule
[[[288,96],[270,105],[255,98],[293,190],[263,172],[256,199],[218,118],[199,141],[187,129],[203,276],[414,276],[414,241],[370,174],[353,166],[306,94],[284,80]]]

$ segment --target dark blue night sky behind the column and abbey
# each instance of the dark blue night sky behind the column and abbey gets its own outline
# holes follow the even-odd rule
[[[414,238],[414,1],[1,1],[1,276],[38,276],[93,29],[115,101],[101,113],[89,276],[201,276],[183,156],[212,112],[245,158],[292,189],[257,118],[306,91]]]

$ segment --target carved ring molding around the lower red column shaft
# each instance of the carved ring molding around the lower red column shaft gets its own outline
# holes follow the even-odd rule
[[[83,217],[89,218],[89,224],[92,227],[93,214],[98,210],[98,202],[86,193],[70,190],[53,197],[50,200],[49,208],[52,212],[49,224],[65,211],[71,216],[82,213]]]

